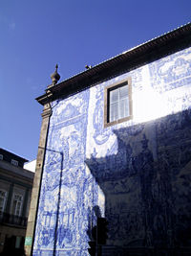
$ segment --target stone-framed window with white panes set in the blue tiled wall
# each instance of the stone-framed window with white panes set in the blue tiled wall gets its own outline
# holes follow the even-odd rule
[[[104,127],[132,118],[131,79],[114,83],[105,88]]]

